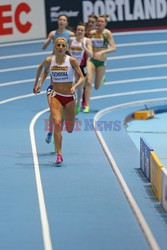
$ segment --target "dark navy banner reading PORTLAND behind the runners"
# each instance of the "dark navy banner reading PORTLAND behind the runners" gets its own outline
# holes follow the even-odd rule
[[[88,16],[108,15],[107,28],[113,31],[167,28],[167,0],[45,0],[47,32],[54,30],[64,13],[70,26],[87,22]]]

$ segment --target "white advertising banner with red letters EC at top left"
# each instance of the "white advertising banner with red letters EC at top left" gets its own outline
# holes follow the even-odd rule
[[[44,0],[0,3],[0,43],[46,36]]]

